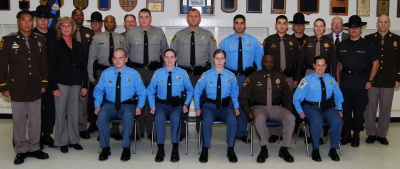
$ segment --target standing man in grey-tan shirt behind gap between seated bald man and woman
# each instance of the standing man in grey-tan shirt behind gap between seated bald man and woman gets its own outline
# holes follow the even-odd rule
[[[168,43],[164,32],[151,25],[152,17],[149,9],[141,9],[138,16],[140,26],[127,32],[123,48],[132,61],[132,67],[140,73],[147,87],[154,71],[162,67],[161,58],[168,48]],[[144,135],[146,121],[147,137],[151,139],[154,116],[149,114],[147,102],[143,111],[143,115],[138,118],[140,131],[143,132],[140,135]]]

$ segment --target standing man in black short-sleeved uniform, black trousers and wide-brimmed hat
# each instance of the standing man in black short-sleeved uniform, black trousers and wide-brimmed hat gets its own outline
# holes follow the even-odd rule
[[[343,131],[341,144],[351,140],[352,147],[360,145],[360,131],[364,130],[363,113],[368,104],[368,90],[371,89],[379,68],[378,55],[374,45],[361,38],[361,18],[353,15],[344,26],[349,28],[350,38],[337,46],[338,82],[343,92]],[[354,130],[351,137],[351,129]]]

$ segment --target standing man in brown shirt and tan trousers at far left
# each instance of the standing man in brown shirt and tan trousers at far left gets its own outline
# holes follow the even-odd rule
[[[18,12],[18,32],[0,41],[0,92],[4,97],[11,97],[17,153],[14,164],[22,164],[26,157],[49,158],[39,144],[40,98],[48,83],[47,47],[45,37],[32,32],[33,16],[28,10]]]

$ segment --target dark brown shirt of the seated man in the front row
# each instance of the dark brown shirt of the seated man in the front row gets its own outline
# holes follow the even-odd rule
[[[249,100],[255,104],[267,104],[268,72],[259,70],[246,78],[239,95],[239,102],[246,113],[251,112]],[[285,75],[277,70],[270,72],[272,85],[272,105],[282,105],[292,111],[293,92],[290,90]]]

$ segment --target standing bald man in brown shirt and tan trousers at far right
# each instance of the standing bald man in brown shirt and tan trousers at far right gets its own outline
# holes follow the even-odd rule
[[[389,31],[390,18],[381,15],[376,23],[378,31],[365,36],[378,49],[379,69],[375,76],[372,88],[368,90],[368,105],[364,112],[367,139],[365,142],[374,143],[378,140],[388,145],[386,134],[389,130],[390,112],[394,87],[400,87],[400,37]],[[380,49],[380,50],[379,50]],[[378,127],[375,124],[376,112],[379,103]]]

